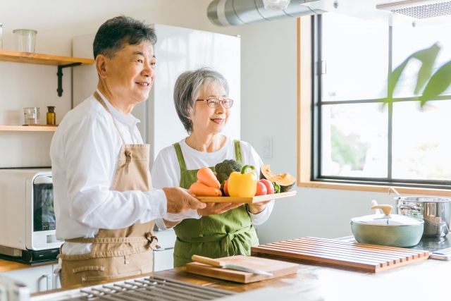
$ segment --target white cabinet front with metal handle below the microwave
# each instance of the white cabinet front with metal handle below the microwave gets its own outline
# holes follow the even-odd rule
[[[0,273],[0,275],[28,285],[31,293],[44,292],[53,288],[53,268],[51,265],[6,271]]]

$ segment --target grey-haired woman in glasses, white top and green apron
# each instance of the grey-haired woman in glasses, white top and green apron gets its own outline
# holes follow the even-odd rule
[[[152,168],[155,188],[179,185],[188,189],[197,171],[235,159],[259,171],[263,164],[246,142],[221,135],[233,112],[226,78],[211,68],[187,71],[175,82],[174,104],[189,136],[161,150]],[[249,255],[259,240],[253,225],[264,223],[274,200],[258,204],[209,203],[204,209],[166,214],[161,229],[175,226],[174,266],[185,266],[193,254],[219,258]]]

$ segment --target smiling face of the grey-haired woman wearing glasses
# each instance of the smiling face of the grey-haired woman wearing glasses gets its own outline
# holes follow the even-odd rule
[[[218,83],[206,84],[201,89],[198,99],[226,99],[227,94],[224,87]],[[210,108],[206,101],[194,104],[194,113],[190,117],[193,132],[205,135],[221,133],[226,126],[230,110],[219,104],[217,108]]]

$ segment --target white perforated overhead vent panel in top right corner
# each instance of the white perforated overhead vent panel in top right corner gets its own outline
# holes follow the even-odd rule
[[[379,4],[376,8],[416,19],[451,15],[451,1],[443,0],[405,0],[388,4]]]

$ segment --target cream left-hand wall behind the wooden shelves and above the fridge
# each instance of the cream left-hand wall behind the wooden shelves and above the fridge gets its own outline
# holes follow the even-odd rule
[[[36,52],[72,56],[72,39],[97,32],[108,18],[125,15],[147,23],[201,29],[206,19],[201,0],[0,0],[3,48],[14,49],[13,30],[37,30]],[[83,68],[83,67],[79,67]],[[71,70],[64,69],[63,97],[58,97],[57,69],[0,62],[0,125],[22,125],[23,108],[37,106],[45,123],[46,106],[56,106],[56,121],[70,110]],[[53,133],[0,132],[0,168],[50,166]]]

